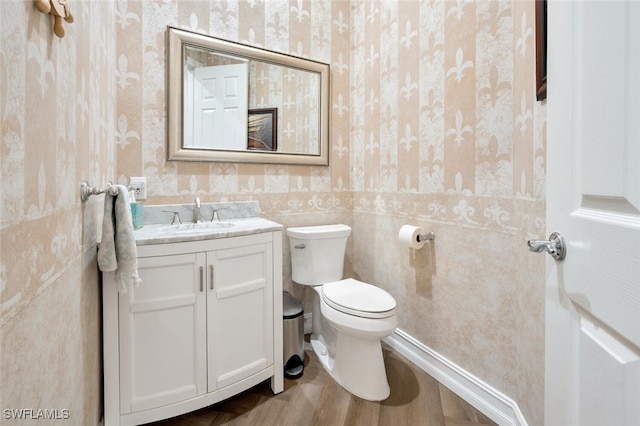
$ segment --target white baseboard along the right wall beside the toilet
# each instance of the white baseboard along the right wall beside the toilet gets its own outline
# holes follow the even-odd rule
[[[515,401],[404,331],[384,342],[499,425],[527,426]]]

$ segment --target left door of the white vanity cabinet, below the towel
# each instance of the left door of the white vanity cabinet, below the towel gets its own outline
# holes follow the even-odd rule
[[[205,255],[138,259],[140,287],[120,296],[121,414],[206,392]]]

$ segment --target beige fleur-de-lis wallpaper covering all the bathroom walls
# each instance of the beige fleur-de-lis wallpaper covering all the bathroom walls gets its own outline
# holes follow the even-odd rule
[[[543,423],[544,259],[525,244],[545,232],[533,1],[71,5],[58,39],[32,2],[0,2],[3,407],[73,395],[98,424],[102,209],[78,185],[146,176],[148,204],[257,200],[285,227],[352,226],[345,275],[389,291],[399,328]],[[167,161],[167,25],[329,63],[330,165]],[[407,223],[436,240],[402,247]]]

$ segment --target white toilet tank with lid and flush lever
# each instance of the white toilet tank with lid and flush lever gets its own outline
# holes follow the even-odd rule
[[[293,281],[303,285],[321,285],[341,280],[349,234],[351,228],[347,225],[287,229]]]

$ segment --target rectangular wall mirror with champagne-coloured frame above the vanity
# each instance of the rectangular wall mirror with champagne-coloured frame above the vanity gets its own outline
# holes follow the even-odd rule
[[[329,164],[329,65],[167,27],[168,158]]]

